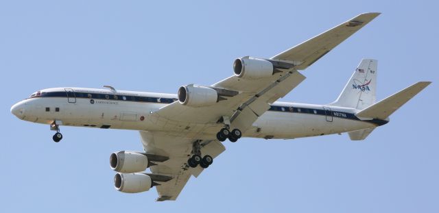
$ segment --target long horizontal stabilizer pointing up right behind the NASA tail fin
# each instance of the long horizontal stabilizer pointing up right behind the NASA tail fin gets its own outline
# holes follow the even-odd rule
[[[396,92],[394,95],[391,95],[374,105],[370,105],[368,108],[357,112],[355,115],[361,118],[388,118],[390,114],[398,110],[429,84],[431,84],[431,82],[418,82],[413,84],[412,86]]]

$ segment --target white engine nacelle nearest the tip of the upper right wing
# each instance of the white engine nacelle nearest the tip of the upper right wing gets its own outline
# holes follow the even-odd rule
[[[233,63],[233,71],[237,77],[244,79],[260,79],[274,74],[272,62],[259,58],[238,58]]]

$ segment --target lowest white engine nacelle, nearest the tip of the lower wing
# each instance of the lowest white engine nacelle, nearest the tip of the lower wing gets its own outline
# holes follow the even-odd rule
[[[138,193],[150,190],[152,179],[142,173],[117,173],[115,175],[115,188],[120,192]]]

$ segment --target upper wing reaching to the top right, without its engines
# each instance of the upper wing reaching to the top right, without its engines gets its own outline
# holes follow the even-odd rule
[[[378,14],[360,14],[311,40],[272,57],[270,59],[272,63],[293,64],[293,66],[279,68],[279,72],[271,77],[244,79],[233,75],[211,85],[211,88],[237,92],[237,95],[233,97],[224,97],[218,103],[201,107],[182,105],[175,101],[152,113],[150,118],[157,121],[157,125],[161,125],[163,129],[170,131],[200,132],[201,129],[209,127],[219,131],[219,125],[215,127],[215,123],[222,116],[228,116],[232,128],[238,128],[244,133],[252,127],[252,123],[259,116],[270,109],[270,103],[287,95],[305,79],[305,76],[297,71],[298,69],[311,65]]]

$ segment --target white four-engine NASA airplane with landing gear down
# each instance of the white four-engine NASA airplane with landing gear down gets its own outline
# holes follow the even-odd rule
[[[137,193],[156,187],[156,201],[176,200],[225,150],[222,142],[248,138],[303,138],[348,133],[364,140],[431,82],[417,82],[376,101],[377,60],[363,59],[340,96],[326,105],[276,101],[300,84],[314,62],[380,13],[359,14],[271,58],[237,58],[233,75],[211,86],[188,84],[176,95],[95,88],[48,88],[14,104],[24,121],[60,126],[131,129],[143,151],[110,154],[115,188]],[[148,173],[146,170],[150,168]]]

